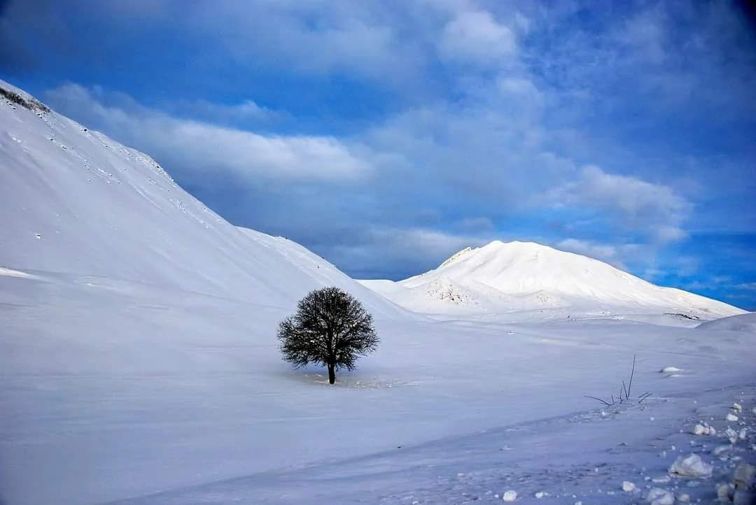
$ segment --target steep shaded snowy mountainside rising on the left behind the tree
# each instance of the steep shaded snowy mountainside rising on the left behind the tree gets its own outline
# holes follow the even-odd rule
[[[337,285],[404,313],[302,246],[228,223],[150,156],[0,88],[0,267],[283,307]]]

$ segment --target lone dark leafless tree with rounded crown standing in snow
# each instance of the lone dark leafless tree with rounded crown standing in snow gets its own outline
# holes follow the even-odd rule
[[[339,288],[316,289],[299,300],[296,314],[278,325],[278,340],[285,361],[296,368],[322,363],[332,384],[336,368],[354,370],[358,357],[373,352],[379,342],[373,316]]]

